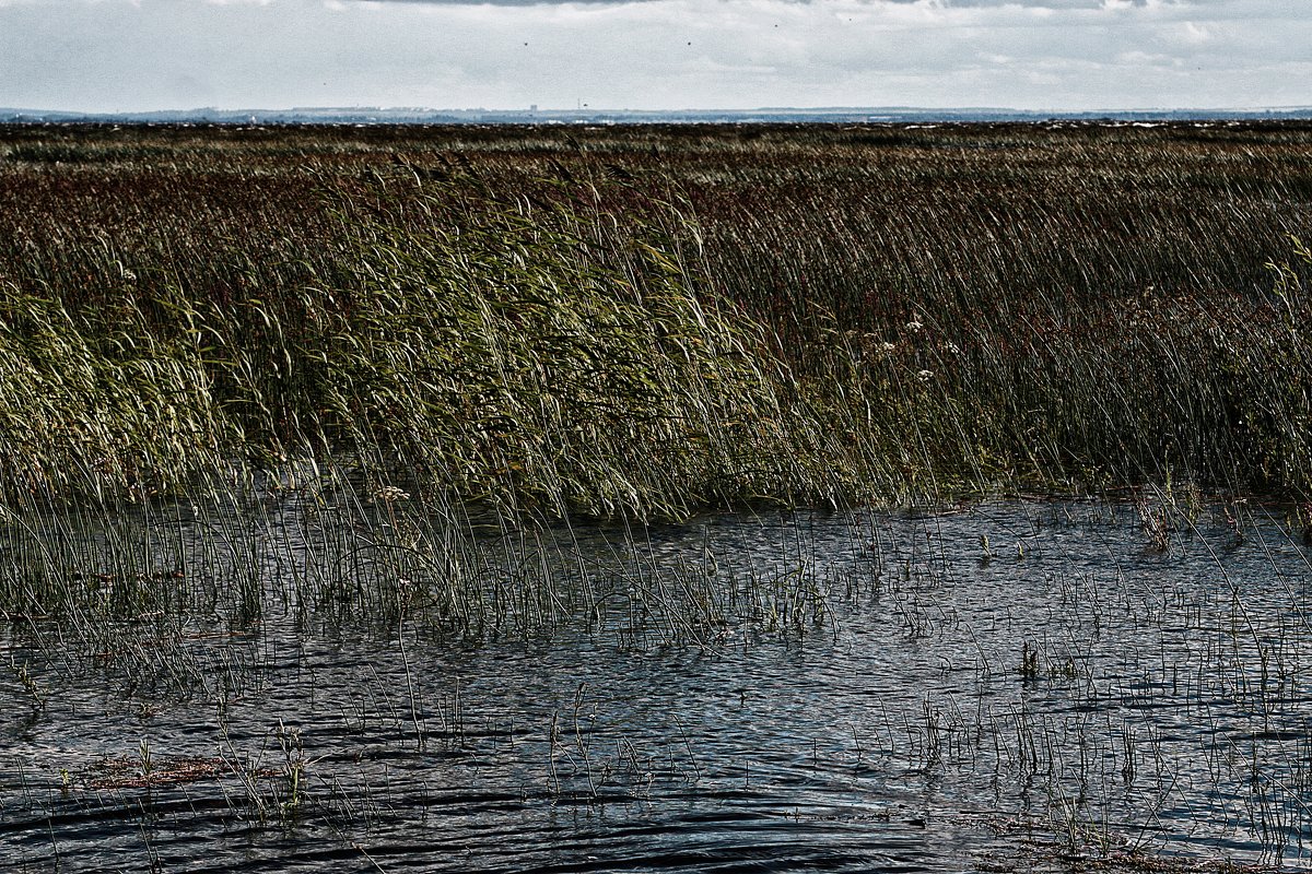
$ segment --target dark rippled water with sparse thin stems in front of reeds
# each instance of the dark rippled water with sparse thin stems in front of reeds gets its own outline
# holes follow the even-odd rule
[[[1257,504],[718,516],[459,561],[398,552],[383,510],[387,542],[295,501],[220,545],[195,507],[81,531],[146,594],[5,626],[8,870],[1312,867],[1312,569]]]

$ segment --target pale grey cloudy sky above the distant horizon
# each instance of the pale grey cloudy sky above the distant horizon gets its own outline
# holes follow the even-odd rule
[[[1252,109],[1309,0],[0,0],[0,106]]]

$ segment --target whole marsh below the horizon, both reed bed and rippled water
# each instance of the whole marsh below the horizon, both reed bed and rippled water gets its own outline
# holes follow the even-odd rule
[[[0,860],[1307,869],[1309,203],[1298,122],[0,126]]]

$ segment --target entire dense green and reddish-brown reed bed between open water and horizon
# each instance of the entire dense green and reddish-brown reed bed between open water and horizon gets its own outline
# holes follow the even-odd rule
[[[1312,126],[0,127],[0,501],[1312,494]]]

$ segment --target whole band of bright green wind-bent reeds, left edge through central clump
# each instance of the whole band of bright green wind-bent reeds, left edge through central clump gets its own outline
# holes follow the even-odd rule
[[[12,494],[312,455],[513,514],[833,499],[842,456],[762,326],[660,228],[407,177],[338,208],[331,271],[268,296],[134,294],[127,267],[76,307],[10,288]]]

